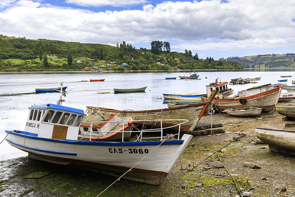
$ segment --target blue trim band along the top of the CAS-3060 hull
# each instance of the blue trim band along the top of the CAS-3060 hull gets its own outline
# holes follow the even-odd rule
[[[10,131],[5,130],[6,133]],[[95,141],[78,141],[78,140],[69,140],[69,139],[52,139],[52,138],[44,138],[44,137],[36,137],[32,135],[25,134],[23,131],[10,132],[12,135],[17,135],[20,137],[26,137],[30,139],[38,139],[43,141],[50,141],[50,142],[58,142],[58,143],[65,143],[65,144],[78,144],[78,145],[96,145],[96,146],[148,146],[148,145],[159,145],[160,141],[151,141],[151,142],[95,142]],[[28,132],[26,132],[28,133]],[[35,134],[34,134],[35,135]],[[8,139],[6,139],[8,140]],[[179,145],[183,144],[183,140],[174,140],[174,141],[165,141],[162,145]]]

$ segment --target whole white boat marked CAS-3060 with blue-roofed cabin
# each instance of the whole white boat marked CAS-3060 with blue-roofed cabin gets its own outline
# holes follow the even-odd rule
[[[173,139],[173,134],[165,137],[163,129],[166,128],[159,127],[156,130],[136,131],[140,132],[140,141],[135,142],[78,140],[79,127],[85,116],[81,109],[55,104],[33,105],[29,107],[24,131],[6,130],[6,141],[28,152],[31,159],[117,177],[124,174],[122,178],[159,185],[192,138],[192,135],[184,134],[179,139],[179,132],[174,134],[178,136],[176,139]],[[164,125],[165,120],[151,121],[160,122],[161,125],[163,122]],[[169,121],[178,122],[176,127],[187,122],[183,119]],[[89,130],[92,132],[92,128]],[[142,141],[145,140],[142,137],[144,132],[160,133],[159,140]],[[125,174],[128,170],[130,172]]]

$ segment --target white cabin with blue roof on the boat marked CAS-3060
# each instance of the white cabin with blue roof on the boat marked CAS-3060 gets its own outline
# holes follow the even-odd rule
[[[77,140],[79,126],[86,116],[81,109],[55,104],[32,105],[24,131],[53,139]]]

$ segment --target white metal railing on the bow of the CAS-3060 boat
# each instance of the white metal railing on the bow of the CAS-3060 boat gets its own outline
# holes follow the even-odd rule
[[[163,122],[165,121],[183,121],[181,123],[178,123],[178,124],[175,124],[173,126],[170,126],[170,127],[164,127],[163,128]],[[185,120],[185,119],[166,119],[166,120],[122,120],[122,121],[100,121],[100,122],[91,122],[89,123],[90,126],[89,126],[89,129],[87,130],[87,132],[84,134],[84,136],[79,139],[78,141],[82,140],[88,133],[90,133],[90,137],[89,137],[89,141],[91,141],[91,136],[92,136],[92,133],[108,133],[109,131],[106,131],[106,132],[101,132],[101,131],[92,131],[92,127],[93,127],[93,124],[101,124],[101,123],[108,123],[108,122],[118,122],[118,123],[122,123],[122,131],[115,131],[115,132],[118,132],[118,133],[122,133],[122,142],[124,141],[124,132],[125,133],[129,133],[129,132],[140,132],[140,135],[138,136],[138,138],[135,140],[135,142],[140,138],[140,142],[142,139],[153,139],[153,138],[161,138],[161,141],[163,139],[163,130],[164,129],[170,129],[170,128],[173,128],[173,127],[177,127],[178,126],[178,133],[177,134],[173,134],[174,136],[178,136],[178,140],[179,140],[179,134],[180,134],[180,127],[181,127],[181,124],[184,124],[186,122],[188,122],[188,120]],[[157,128],[157,129],[142,129],[141,131],[124,131],[124,123],[125,122],[160,122],[160,125],[161,127],[160,128]],[[169,123],[171,124],[171,123]],[[161,132],[161,136],[160,137],[142,137],[142,133],[145,133],[145,132]]]

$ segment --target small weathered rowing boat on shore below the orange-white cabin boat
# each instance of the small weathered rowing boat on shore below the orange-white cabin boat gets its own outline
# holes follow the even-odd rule
[[[224,110],[227,114],[238,117],[258,117],[261,114],[261,107],[239,107]]]

